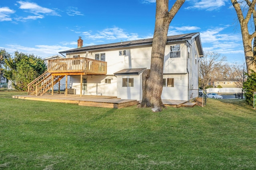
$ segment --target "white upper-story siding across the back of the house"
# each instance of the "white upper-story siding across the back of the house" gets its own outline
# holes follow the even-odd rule
[[[170,58],[170,46],[166,45],[164,52],[164,73],[186,73],[186,45],[180,44],[181,57]],[[126,55],[119,56],[120,50],[126,50]],[[88,58],[94,59],[96,53],[105,53],[107,62],[107,74],[114,74],[124,68],[147,68],[150,69],[152,47],[138,47],[132,49],[115,49],[112,51],[99,51],[95,53],[88,53]],[[67,58],[72,58],[74,55],[83,54],[70,54]]]

